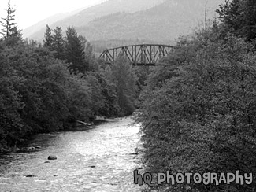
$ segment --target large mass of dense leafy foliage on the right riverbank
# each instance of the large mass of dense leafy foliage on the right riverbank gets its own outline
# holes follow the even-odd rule
[[[233,1],[227,9],[245,2],[251,1]],[[226,22],[180,42],[176,53],[150,73],[139,98],[143,113],[136,116],[142,125],[146,171],[256,171],[254,43],[239,27],[229,31]],[[161,183],[149,190],[255,191],[255,179],[250,185]]]

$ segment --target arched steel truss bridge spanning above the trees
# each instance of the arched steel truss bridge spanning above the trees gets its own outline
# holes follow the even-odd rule
[[[118,57],[126,57],[133,65],[155,65],[162,57],[173,53],[175,46],[159,44],[143,44],[132,46],[120,46],[104,50],[99,56],[106,64],[111,64]]]

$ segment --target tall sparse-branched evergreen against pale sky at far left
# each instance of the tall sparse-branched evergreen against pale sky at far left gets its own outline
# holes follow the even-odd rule
[[[0,23],[2,24],[2,32],[0,32],[0,34],[2,34],[4,39],[6,40],[7,46],[14,46],[22,39],[21,32],[20,30],[18,30],[17,24],[14,22],[15,11],[16,10],[13,9],[9,0],[6,9],[7,16],[6,18],[2,18],[2,21],[0,21]]]

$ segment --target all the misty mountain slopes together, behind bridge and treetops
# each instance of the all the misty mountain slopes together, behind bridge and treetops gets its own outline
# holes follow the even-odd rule
[[[63,31],[70,25],[90,41],[148,39],[166,42],[188,35],[213,19],[224,0],[109,0],[50,24]],[[29,38],[41,41],[45,25],[36,26]],[[31,30],[32,31],[32,30]]]

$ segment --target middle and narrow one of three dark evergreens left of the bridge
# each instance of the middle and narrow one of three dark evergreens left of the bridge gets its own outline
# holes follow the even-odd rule
[[[65,47],[64,47],[64,39],[62,36],[61,27],[56,27],[54,29],[53,35],[53,50],[56,51],[54,57],[65,60]]]

